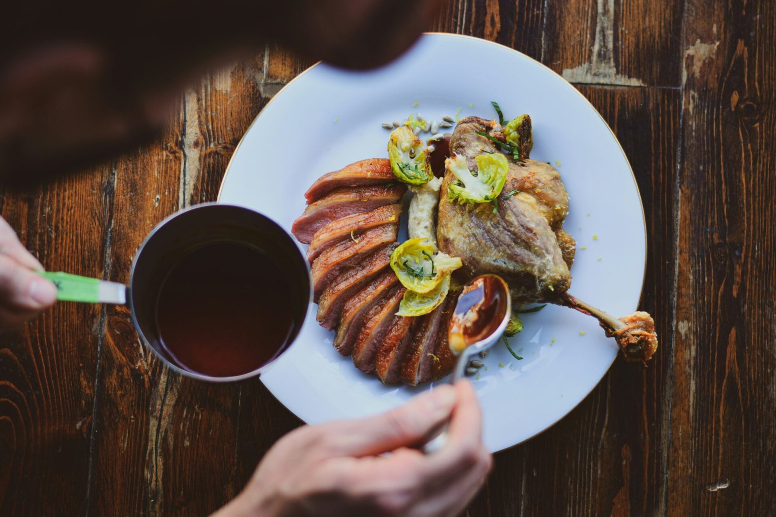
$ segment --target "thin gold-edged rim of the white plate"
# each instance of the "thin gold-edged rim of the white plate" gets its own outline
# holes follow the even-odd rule
[[[496,46],[496,47],[503,47],[504,49],[511,50],[511,51],[512,51],[512,52],[514,52],[514,53],[518,53],[519,55],[521,55],[521,56],[523,56],[523,57],[526,57],[526,58],[528,58],[529,60],[532,60],[532,61],[533,61],[535,64],[539,64],[540,66],[542,66],[543,68],[545,68],[545,69],[546,69],[547,71],[549,71],[550,73],[552,73],[552,74],[556,75],[556,77],[557,77],[557,78],[559,78],[561,81],[563,81],[563,82],[565,82],[566,84],[568,84],[568,85],[569,85],[569,86],[572,88],[572,90],[573,90],[573,91],[574,91],[574,92],[575,92],[577,95],[579,95],[579,96],[580,96],[580,98],[582,98],[582,100],[583,100],[584,102],[586,102],[586,103],[587,103],[587,105],[590,105],[590,107],[593,109],[593,112],[594,112],[596,115],[598,115],[598,118],[599,118],[599,119],[601,119],[601,122],[603,122],[603,123],[604,123],[604,126],[606,127],[606,129],[608,129],[608,131],[609,131],[609,134],[611,134],[611,137],[612,137],[612,138],[615,140],[615,142],[617,143],[617,146],[620,148],[620,152],[622,153],[622,157],[623,157],[623,158],[625,158],[625,163],[626,163],[626,164],[628,164],[628,170],[629,170],[629,172],[630,172],[630,174],[631,174],[631,179],[632,179],[632,181],[633,181],[633,186],[634,186],[634,187],[636,187],[636,194],[639,196],[639,208],[641,209],[641,220],[642,220],[642,224],[643,224],[643,226],[644,226],[644,269],[643,269],[643,271],[642,271],[641,288],[640,288],[640,290],[639,290],[639,302],[636,304],[636,308],[639,308],[639,305],[641,305],[641,302],[642,302],[642,299],[643,299],[643,296],[644,296],[644,283],[646,282],[646,264],[647,264],[647,260],[648,260],[648,258],[649,258],[649,248],[648,248],[648,246],[649,246],[649,240],[648,240],[647,227],[646,227],[646,212],[644,212],[644,200],[643,200],[643,197],[642,197],[642,195],[641,195],[641,190],[639,189],[639,182],[638,182],[638,181],[636,181],[636,174],[634,174],[634,172],[633,172],[633,167],[632,167],[632,165],[631,165],[631,163],[630,163],[630,160],[628,159],[628,155],[625,153],[625,150],[622,148],[622,143],[620,143],[620,141],[618,140],[618,138],[617,138],[617,135],[615,135],[615,132],[611,130],[611,126],[609,126],[608,122],[606,122],[606,119],[604,119],[603,115],[601,115],[601,113],[600,113],[600,112],[598,112],[598,109],[597,109],[597,108],[596,108],[596,107],[593,105],[593,103],[592,103],[592,102],[590,102],[590,100],[589,100],[587,97],[585,97],[584,95],[582,95],[582,92],[581,92],[581,91],[579,91],[579,90],[577,89],[577,87],[576,87],[576,86],[574,86],[574,85],[573,85],[573,84],[572,84],[570,81],[567,81],[567,80],[566,80],[566,78],[563,78],[563,76],[562,76],[562,75],[558,74],[556,71],[554,71],[552,68],[548,67],[546,64],[543,64],[543,63],[542,63],[541,61],[539,61],[539,60],[535,60],[533,57],[531,57],[531,56],[528,56],[528,54],[526,54],[526,53],[522,53],[520,50],[515,50],[515,49],[513,49],[512,47],[507,47],[507,46],[506,46],[506,45],[504,45],[504,44],[497,43],[497,42],[495,42],[495,41],[485,40],[484,38],[480,38],[480,37],[477,37],[477,36],[469,36],[469,35],[466,35],[466,34],[456,34],[456,33],[442,33],[442,32],[436,32],[436,31],[428,31],[428,32],[424,32],[424,33],[422,33],[422,34],[421,34],[421,36],[418,36],[418,39],[417,39],[417,40],[415,40],[415,42],[413,43],[413,45],[414,45],[414,44],[416,44],[416,43],[417,43],[417,41],[418,41],[418,40],[420,40],[422,36],[456,36],[456,37],[459,37],[459,38],[465,38],[465,39],[467,39],[467,40],[476,40],[477,42],[482,42],[482,43],[490,43],[491,45],[494,45],[494,46]],[[410,48],[411,48],[411,47],[410,47]],[[407,49],[407,51],[409,51],[409,50],[410,50],[410,49]],[[405,53],[406,53],[407,51],[405,51]],[[404,54],[403,54],[403,55],[404,55]],[[397,59],[400,59],[400,58],[401,58],[401,56],[400,56],[400,57],[398,57]],[[307,74],[309,71],[313,70],[315,67],[317,67],[317,66],[318,66],[318,65],[320,65],[320,64],[324,64],[324,62],[323,62],[323,61],[317,61],[316,63],[314,63],[314,64],[311,64],[309,67],[305,68],[305,69],[304,69],[303,71],[301,71],[299,74],[296,74],[296,77],[294,77],[293,79],[291,79],[291,81],[289,81],[289,82],[287,82],[286,84],[284,84],[284,85],[283,85],[283,87],[282,87],[282,88],[280,88],[280,89],[279,89],[279,90],[278,90],[278,91],[275,93],[275,95],[272,95],[272,98],[270,98],[270,99],[268,100],[268,102],[267,102],[267,103],[264,105],[264,107],[263,107],[263,108],[262,108],[262,109],[261,109],[261,110],[260,110],[260,111],[259,111],[259,112],[256,114],[255,118],[254,118],[254,119],[251,121],[251,123],[250,123],[250,124],[248,125],[248,127],[245,129],[245,132],[244,132],[244,133],[243,133],[243,135],[241,136],[241,138],[240,138],[240,141],[239,141],[239,142],[237,142],[237,146],[235,146],[235,147],[234,147],[234,151],[232,152],[232,155],[231,155],[231,157],[229,158],[229,162],[227,163],[227,167],[226,167],[226,168],[224,169],[224,171],[223,171],[223,178],[221,178],[221,183],[220,183],[220,185],[219,185],[219,188],[218,188],[218,194],[217,194],[217,196],[216,196],[216,202],[217,202],[217,203],[221,203],[221,194],[222,194],[222,192],[223,192],[223,184],[224,184],[224,183],[226,183],[226,181],[227,181],[227,175],[229,174],[230,168],[231,168],[231,166],[232,166],[232,161],[234,160],[234,155],[235,155],[235,154],[237,154],[237,151],[238,151],[238,150],[240,150],[240,146],[241,146],[241,145],[242,145],[242,143],[244,142],[244,140],[245,140],[245,136],[247,136],[247,135],[248,135],[248,133],[251,131],[251,129],[253,128],[253,126],[255,125],[255,123],[256,123],[256,122],[258,122],[258,119],[259,119],[259,117],[261,117],[261,116],[262,116],[262,113],[265,111],[265,109],[267,108],[267,106],[268,106],[268,105],[270,105],[270,104],[271,104],[273,101],[275,101],[275,98],[277,98],[277,97],[278,97],[278,96],[279,96],[279,95],[282,93],[282,91],[283,91],[283,90],[285,90],[285,89],[286,89],[286,88],[288,88],[288,87],[289,87],[291,84],[293,84],[293,82],[294,82],[294,81],[296,81],[297,79],[301,78],[301,77],[302,77],[304,74]],[[534,435],[532,435],[532,436],[529,436],[529,437],[528,437],[528,438],[526,438],[526,439],[523,439],[523,440],[521,440],[521,441],[519,441],[519,442],[517,442],[517,443],[514,443],[514,444],[512,444],[511,446],[507,446],[507,447],[504,447],[504,448],[502,448],[502,449],[499,449],[499,450],[496,450],[496,451],[493,451],[493,452],[494,452],[494,453],[497,453],[497,452],[501,452],[501,451],[504,451],[504,450],[510,450],[510,449],[512,449],[513,447],[516,447],[516,446],[518,446],[518,445],[521,445],[521,443],[525,443],[525,442],[527,442],[527,441],[528,441],[528,440],[530,440],[530,439],[534,439],[534,438],[536,438],[537,436],[539,436],[539,435],[542,435],[542,434],[543,434],[543,433],[545,433],[545,432],[546,432],[548,429],[551,429],[551,428],[553,428],[553,426],[556,426],[556,424],[557,424],[558,422],[560,422],[561,420],[565,419],[565,418],[566,418],[566,416],[567,416],[567,415],[569,415],[569,413],[570,413],[570,412],[573,412],[573,410],[574,410],[574,409],[576,409],[576,408],[577,408],[577,407],[578,407],[578,406],[579,406],[579,405],[580,405],[582,402],[584,402],[584,400],[585,400],[587,397],[589,397],[589,396],[590,396],[590,394],[591,394],[591,393],[594,391],[594,389],[595,389],[595,388],[598,388],[598,385],[599,385],[599,384],[601,384],[601,381],[603,381],[603,380],[604,380],[604,377],[606,377],[606,375],[609,373],[609,371],[611,370],[611,367],[612,367],[612,365],[613,365],[613,364],[615,364],[615,360],[617,360],[617,358],[618,358],[618,357],[619,357],[619,353],[616,353],[616,354],[615,354],[615,357],[614,357],[614,358],[611,360],[611,363],[609,363],[608,367],[606,367],[606,370],[605,370],[604,374],[603,374],[603,375],[601,375],[601,378],[600,378],[600,379],[598,379],[598,382],[596,382],[596,383],[593,385],[593,387],[590,389],[590,391],[588,391],[588,392],[587,392],[587,394],[585,394],[585,395],[584,395],[584,397],[580,398],[580,401],[579,401],[579,402],[577,402],[577,404],[575,404],[575,405],[573,405],[573,407],[569,408],[569,410],[568,410],[567,412],[563,413],[563,415],[560,415],[560,417],[559,417],[558,419],[556,419],[556,421],[555,421],[555,422],[551,423],[549,426],[546,426],[544,429],[542,429],[542,430],[541,430],[541,431],[539,431],[538,433],[535,433]],[[275,400],[276,400],[276,401],[280,402],[280,404],[281,404],[281,405],[282,405],[284,408],[286,408],[286,409],[287,409],[289,412],[291,412],[291,413],[292,413],[294,416],[296,416],[296,418],[300,419],[302,422],[304,422],[305,424],[307,424],[307,422],[305,421],[305,419],[303,419],[303,418],[302,418],[300,415],[297,415],[297,414],[296,414],[296,412],[293,412],[293,411],[291,411],[291,409],[289,409],[289,408],[288,408],[288,407],[287,407],[285,404],[283,404],[283,403],[280,401],[280,399],[279,399],[279,398],[278,398],[278,397],[275,395],[275,393],[274,393],[274,392],[272,392],[272,390],[270,390],[270,389],[267,387],[267,385],[266,385],[266,384],[264,383],[264,381],[262,380],[262,377],[261,377],[261,376],[259,376],[258,378],[259,378],[259,380],[261,380],[261,381],[262,381],[262,384],[264,384],[264,385],[265,385],[265,388],[267,388],[267,391],[270,393],[270,395],[272,395],[272,397],[274,397],[274,398],[275,398]]]

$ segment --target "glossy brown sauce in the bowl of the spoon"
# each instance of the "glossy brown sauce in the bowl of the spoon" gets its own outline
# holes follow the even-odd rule
[[[450,350],[456,355],[496,332],[508,310],[508,288],[501,277],[484,274],[463,288],[452,314]]]

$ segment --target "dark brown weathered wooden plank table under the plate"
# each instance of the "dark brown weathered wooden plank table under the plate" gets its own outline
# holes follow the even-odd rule
[[[776,513],[774,27],[771,0],[443,10],[438,30],[541,60],[614,129],[643,196],[642,306],[661,345],[646,370],[616,361],[565,419],[497,454],[469,515]],[[157,142],[5,192],[2,215],[48,269],[126,282],[147,231],[216,198],[251,120],[308,65],[269,46],[210,74]],[[0,515],[203,515],[300,425],[258,380],[165,369],[123,307],[63,303],[0,339]]]

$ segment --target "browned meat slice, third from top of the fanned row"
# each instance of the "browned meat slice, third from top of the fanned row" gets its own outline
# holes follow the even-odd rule
[[[346,215],[341,219],[327,223],[319,229],[313,236],[313,242],[307,248],[307,260],[313,264],[320,253],[341,243],[346,239],[358,240],[359,236],[365,230],[380,226],[383,224],[397,224],[401,215],[401,203],[395,205],[385,205],[372,212],[362,212],[358,214]]]

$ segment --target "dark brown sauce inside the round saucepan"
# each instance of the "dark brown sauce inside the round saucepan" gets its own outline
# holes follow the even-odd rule
[[[262,251],[211,243],[172,267],[157,299],[157,326],[172,362],[210,377],[247,374],[287,346],[291,289]]]

